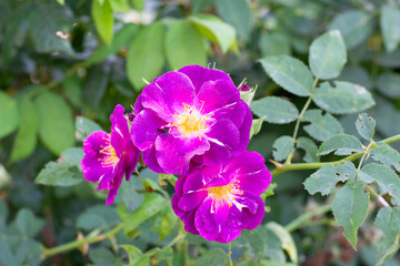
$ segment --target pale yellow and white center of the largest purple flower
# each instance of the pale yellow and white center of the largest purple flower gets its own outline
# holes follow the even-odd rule
[[[189,104],[183,103],[184,109],[180,114],[173,114],[174,122],[172,126],[177,126],[182,137],[193,137],[204,135],[208,131],[208,121],[212,121],[209,115],[202,115],[198,110]],[[200,109],[201,111],[201,109]]]

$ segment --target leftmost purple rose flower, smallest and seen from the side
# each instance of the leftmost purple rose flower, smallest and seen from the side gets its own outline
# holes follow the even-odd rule
[[[110,115],[111,133],[97,131],[83,142],[83,176],[87,181],[99,182],[99,190],[110,191],[106,201],[108,205],[113,203],[123,174],[129,181],[140,155],[131,141],[123,113],[124,109],[118,104]]]

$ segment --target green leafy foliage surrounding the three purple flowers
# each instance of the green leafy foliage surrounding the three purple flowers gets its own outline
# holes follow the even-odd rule
[[[0,265],[400,265],[399,42],[399,0],[0,0]],[[273,184],[231,245],[183,232],[176,176],[139,166],[106,206],[80,170],[187,64],[258,88]]]

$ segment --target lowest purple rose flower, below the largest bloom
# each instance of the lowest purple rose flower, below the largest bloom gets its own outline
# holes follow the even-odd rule
[[[262,222],[264,203],[259,195],[270,183],[263,157],[244,151],[227,163],[179,177],[172,208],[186,231],[207,241],[231,242],[243,228]]]

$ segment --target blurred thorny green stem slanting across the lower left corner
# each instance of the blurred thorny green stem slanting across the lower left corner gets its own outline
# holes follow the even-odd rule
[[[71,249],[74,249],[74,248],[78,248],[80,246],[83,246],[86,244],[92,244],[92,243],[96,243],[96,242],[101,242],[103,239],[107,239],[116,234],[118,234],[121,229],[123,229],[123,226],[124,224],[120,224],[118,225],[116,228],[109,231],[109,232],[106,232],[104,234],[101,234],[101,235],[98,235],[98,236],[91,236],[91,237],[86,237],[83,239],[80,239],[80,241],[73,241],[73,242],[70,242],[70,243],[67,243],[67,244],[63,244],[63,245],[60,245],[60,246],[57,246],[57,247],[53,247],[53,248],[44,248],[43,249],[43,256],[44,258],[46,257],[51,257],[51,256],[54,256],[59,253],[63,253],[63,252],[68,252],[68,250],[71,250]]]

